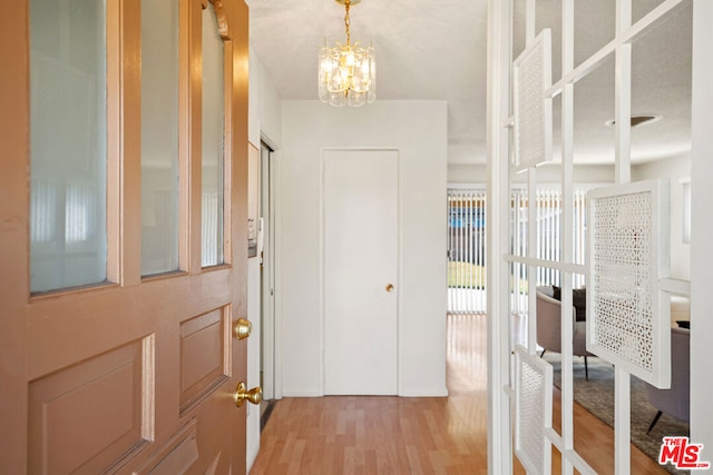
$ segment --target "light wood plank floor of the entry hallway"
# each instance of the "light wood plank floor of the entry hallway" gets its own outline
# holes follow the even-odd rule
[[[251,475],[486,474],[486,321],[482,315],[448,317],[449,397],[280,400]],[[600,474],[614,472],[613,441],[612,428],[575,405],[575,448]],[[554,473],[559,465],[555,451]],[[514,466],[525,473],[517,458]],[[632,447],[632,474],[656,473],[666,472]]]

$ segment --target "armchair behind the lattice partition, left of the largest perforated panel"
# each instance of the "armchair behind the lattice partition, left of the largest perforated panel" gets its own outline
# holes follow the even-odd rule
[[[561,303],[553,298],[551,286],[537,287],[537,344],[545,352],[561,353]],[[572,307],[573,355],[584,357],[585,376],[589,379],[587,356],[587,323],[576,321],[576,309]],[[540,355],[540,356],[541,356]]]

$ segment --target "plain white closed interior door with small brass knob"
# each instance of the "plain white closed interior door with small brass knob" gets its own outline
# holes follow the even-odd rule
[[[325,151],[326,394],[397,394],[398,265],[398,151]]]

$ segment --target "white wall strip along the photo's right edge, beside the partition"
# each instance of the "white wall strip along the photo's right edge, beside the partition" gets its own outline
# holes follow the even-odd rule
[[[713,2],[693,3],[692,229],[691,229],[691,441],[703,444],[702,458],[713,463]]]

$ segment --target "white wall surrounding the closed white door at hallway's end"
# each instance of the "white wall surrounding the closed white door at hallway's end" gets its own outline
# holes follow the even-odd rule
[[[324,394],[320,177],[325,147],[399,150],[399,394],[447,394],[446,113],[445,101],[377,101],[362,108],[283,102],[277,318],[285,396]]]

